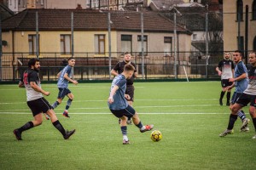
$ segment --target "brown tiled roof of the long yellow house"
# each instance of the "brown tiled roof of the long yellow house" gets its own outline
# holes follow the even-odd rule
[[[108,11],[88,9],[26,9],[3,20],[3,31],[34,31],[36,29],[36,12],[38,11],[39,31],[71,30],[73,12],[74,31],[108,30]],[[141,31],[141,14],[128,11],[110,11],[111,29],[116,31]],[[160,14],[146,12],[143,14],[144,31],[172,32],[174,25]],[[190,34],[188,30],[177,26],[177,31]]]

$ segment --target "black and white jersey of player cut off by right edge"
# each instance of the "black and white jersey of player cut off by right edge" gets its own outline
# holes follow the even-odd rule
[[[256,67],[253,67],[253,65],[250,65],[248,67],[248,78],[249,84],[247,86],[247,89],[243,93],[256,95]]]

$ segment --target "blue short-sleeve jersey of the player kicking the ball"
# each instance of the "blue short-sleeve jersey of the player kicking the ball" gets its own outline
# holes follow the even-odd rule
[[[108,107],[111,110],[122,110],[128,106],[127,100],[125,99],[125,89],[126,89],[126,79],[125,76],[119,74],[119,76],[114,77],[110,92],[114,86],[118,86],[119,89],[113,95],[113,103],[109,104]]]

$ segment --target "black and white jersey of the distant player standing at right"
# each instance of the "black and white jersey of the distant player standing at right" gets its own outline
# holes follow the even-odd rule
[[[234,69],[234,62],[226,59],[222,59],[219,63],[218,63],[218,68],[220,68],[220,70],[222,71],[221,74],[221,79],[229,79],[232,78],[232,70]]]

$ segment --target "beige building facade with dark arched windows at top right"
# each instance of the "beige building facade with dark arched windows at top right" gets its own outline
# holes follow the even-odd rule
[[[223,10],[224,50],[255,51],[256,0],[223,0]]]

